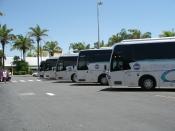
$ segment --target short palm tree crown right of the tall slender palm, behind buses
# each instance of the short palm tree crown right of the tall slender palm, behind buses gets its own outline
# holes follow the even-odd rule
[[[61,47],[58,46],[57,41],[48,41],[46,44],[43,46],[44,51],[49,52],[49,56],[54,56],[55,53],[61,53],[62,49]]]

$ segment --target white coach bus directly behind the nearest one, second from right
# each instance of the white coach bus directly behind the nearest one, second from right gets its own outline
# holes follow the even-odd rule
[[[112,49],[80,51],[77,62],[77,82],[95,82],[107,85],[106,71]]]

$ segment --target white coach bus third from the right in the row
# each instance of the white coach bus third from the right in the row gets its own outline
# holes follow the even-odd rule
[[[56,64],[55,77],[58,80],[72,80],[76,81],[76,63],[77,55],[60,56]]]

